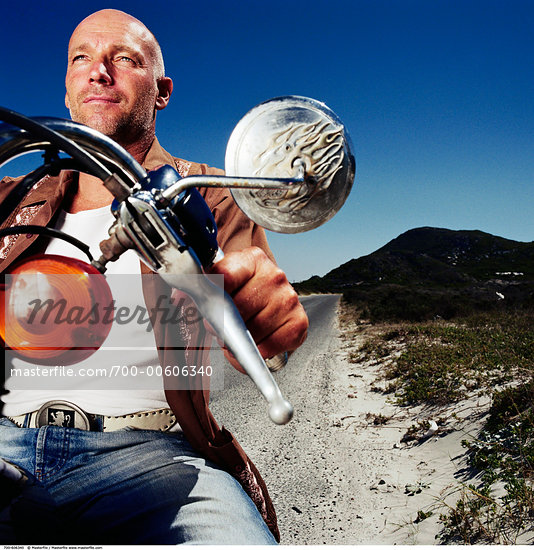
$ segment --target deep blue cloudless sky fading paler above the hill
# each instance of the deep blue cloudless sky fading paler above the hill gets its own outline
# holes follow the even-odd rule
[[[162,45],[175,88],[158,136],[177,156],[223,167],[235,124],[271,97],[313,97],[343,120],[356,156],[345,206],[311,232],[269,234],[290,280],[323,275],[425,225],[534,240],[533,1],[87,4],[4,8],[0,105],[68,117],[70,33],[114,7]]]

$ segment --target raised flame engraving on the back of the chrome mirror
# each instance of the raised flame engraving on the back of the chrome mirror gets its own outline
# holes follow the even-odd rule
[[[304,183],[289,189],[256,190],[261,205],[283,212],[304,208],[317,194],[328,189],[344,158],[342,126],[318,120],[291,124],[274,135],[263,153],[254,159],[254,176],[304,177]]]

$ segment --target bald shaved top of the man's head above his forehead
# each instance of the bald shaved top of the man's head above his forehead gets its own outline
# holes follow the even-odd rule
[[[161,47],[156,40],[156,37],[152,32],[146,27],[146,25],[136,19],[132,15],[114,9],[104,9],[95,11],[91,15],[88,15],[83,19],[79,25],[74,29],[72,36],[69,40],[69,52],[71,51],[71,45],[76,39],[77,33],[80,30],[85,31],[86,29],[102,29],[105,27],[111,26],[117,30],[122,29],[122,32],[127,31],[135,36],[137,36],[141,41],[145,43],[145,46],[148,51],[151,52],[151,61],[154,65],[154,73],[156,78],[161,78],[165,76],[165,64],[163,62],[163,54],[161,52]]]

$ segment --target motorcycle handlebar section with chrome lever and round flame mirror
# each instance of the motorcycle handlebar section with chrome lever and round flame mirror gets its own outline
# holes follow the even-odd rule
[[[106,265],[133,249],[171,287],[187,293],[225,346],[242,365],[269,405],[276,424],[293,416],[232,299],[204,276],[222,259],[213,215],[199,187],[229,188],[241,210],[258,225],[281,233],[314,229],[344,204],[354,182],[355,160],[348,132],[323,103],[300,96],[268,100],[251,109],[234,128],[226,149],[225,175],[181,177],[171,166],[147,173],[122,147],[98,131],[70,120],[28,118],[0,108],[0,166],[32,151],[44,151],[43,165],[28,174],[0,205],[3,223],[24,196],[47,174],[69,169],[102,180],[115,200],[109,238],[93,258],[87,245],[47,227],[16,226],[6,235],[33,233],[67,240],[84,251],[86,273],[103,274]],[[28,259],[29,261],[30,259]],[[66,260],[65,270],[72,266]],[[70,266],[70,267],[69,267]],[[183,275],[199,275],[184,277]],[[6,326],[17,323],[10,307],[13,287],[5,289],[0,332],[6,349],[24,356],[30,349],[13,340]],[[101,291],[106,294],[104,284]],[[223,311],[221,311],[221,309]],[[38,362],[38,358],[32,357]]]

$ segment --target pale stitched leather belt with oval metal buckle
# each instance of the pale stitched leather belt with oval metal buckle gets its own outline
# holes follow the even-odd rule
[[[171,409],[106,416],[87,413],[69,401],[48,401],[37,411],[6,418],[19,428],[60,426],[93,432],[115,432],[126,428],[168,432],[177,425],[176,416]]]

